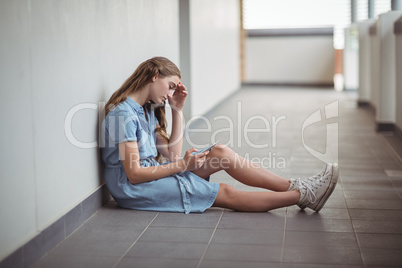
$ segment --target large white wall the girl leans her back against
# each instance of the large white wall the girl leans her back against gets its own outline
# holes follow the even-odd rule
[[[65,117],[106,101],[143,60],[178,63],[176,0],[0,1],[0,260],[102,183],[98,149]],[[72,131],[96,141],[98,113]]]

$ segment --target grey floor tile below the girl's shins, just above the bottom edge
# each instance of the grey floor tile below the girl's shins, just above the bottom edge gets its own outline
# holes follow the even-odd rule
[[[280,262],[282,246],[211,244],[205,260]]]

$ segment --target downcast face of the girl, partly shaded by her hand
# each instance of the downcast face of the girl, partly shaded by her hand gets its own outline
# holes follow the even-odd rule
[[[166,76],[161,78],[156,76],[152,79],[150,87],[150,99],[156,103],[161,104],[167,100],[167,96],[172,96],[173,91],[176,89],[180,78],[177,76]]]

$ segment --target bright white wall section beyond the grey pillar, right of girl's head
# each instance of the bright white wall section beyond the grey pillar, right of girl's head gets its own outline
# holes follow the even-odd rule
[[[192,115],[240,89],[239,8],[233,0],[190,0]]]

